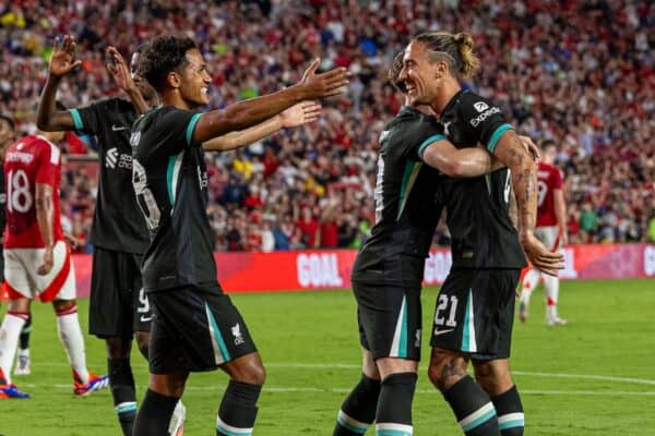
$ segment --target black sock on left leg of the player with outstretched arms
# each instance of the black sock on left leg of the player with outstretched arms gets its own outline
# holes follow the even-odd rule
[[[165,436],[168,435],[168,424],[177,397],[166,397],[153,390],[147,390],[143,403],[134,421],[134,436]]]

